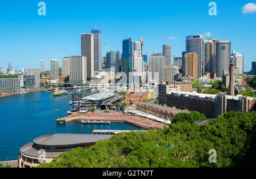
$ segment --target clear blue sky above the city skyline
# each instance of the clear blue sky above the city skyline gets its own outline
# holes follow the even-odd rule
[[[256,11],[242,7],[255,1],[212,0],[217,16],[208,14],[211,1],[60,1],[46,3],[46,16],[38,15],[40,1],[3,1],[0,6],[0,67],[12,61],[15,70],[39,68],[40,60],[80,54],[80,33],[93,27],[102,31],[102,54],[122,50],[122,40],[144,39],[144,50],[161,52],[172,44],[172,54],[181,56],[185,36],[210,32],[209,38],[232,41],[232,50],[245,56],[245,71],[256,61]],[[97,25],[96,25],[97,24]],[[171,38],[170,38],[171,37]]]

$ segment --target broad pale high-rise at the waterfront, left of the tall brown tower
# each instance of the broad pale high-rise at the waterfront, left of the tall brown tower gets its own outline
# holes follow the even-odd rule
[[[69,57],[69,83],[86,83],[86,57],[84,56],[71,56]]]

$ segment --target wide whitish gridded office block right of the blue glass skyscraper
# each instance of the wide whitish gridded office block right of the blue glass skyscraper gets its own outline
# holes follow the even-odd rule
[[[166,80],[166,57],[150,56],[148,57],[148,81],[155,80],[157,83]]]

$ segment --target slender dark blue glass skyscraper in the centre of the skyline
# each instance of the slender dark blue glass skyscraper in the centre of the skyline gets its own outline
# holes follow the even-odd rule
[[[133,40],[125,39],[123,40],[123,53],[122,53],[122,70],[126,74],[127,83],[132,76],[129,73],[133,71]]]

